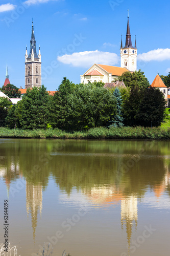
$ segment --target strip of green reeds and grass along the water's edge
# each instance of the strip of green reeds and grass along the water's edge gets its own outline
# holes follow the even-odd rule
[[[0,127],[0,138],[53,139],[170,139],[170,127],[96,127],[85,132],[65,132],[59,129],[20,130]]]

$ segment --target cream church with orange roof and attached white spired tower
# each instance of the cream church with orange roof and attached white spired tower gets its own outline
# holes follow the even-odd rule
[[[135,46],[132,46],[132,39],[130,33],[129,25],[129,12],[128,12],[128,24],[127,24],[127,34],[126,34],[126,43],[123,47],[123,42],[121,41],[120,45],[120,67],[94,64],[89,68],[84,75],[81,77],[81,83],[89,82],[99,82],[111,83],[118,76],[121,76],[124,72],[134,72],[137,69],[137,47],[136,47],[136,37],[135,37]]]

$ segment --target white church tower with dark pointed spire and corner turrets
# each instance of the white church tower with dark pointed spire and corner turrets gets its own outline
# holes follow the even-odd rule
[[[135,47],[132,46],[131,32],[129,26],[129,10],[128,10],[128,25],[126,33],[126,44],[123,47],[122,41],[120,46],[120,62],[121,68],[127,68],[129,71],[137,70],[137,47],[135,36]]]

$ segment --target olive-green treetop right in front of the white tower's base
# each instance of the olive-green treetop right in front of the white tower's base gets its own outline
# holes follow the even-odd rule
[[[135,72],[124,72],[118,77],[119,81],[124,81],[126,87],[138,86],[139,88],[149,88],[150,83],[141,70]]]

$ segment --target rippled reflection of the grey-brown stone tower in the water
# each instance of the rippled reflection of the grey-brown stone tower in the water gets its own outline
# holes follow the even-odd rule
[[[42,212],[42,185],[34,185],[26,182],[26,199],[27,214],[29,215],[29,212],[31,213],[33,239],[35,239],[38,210],[40,212],[40,215]]]

